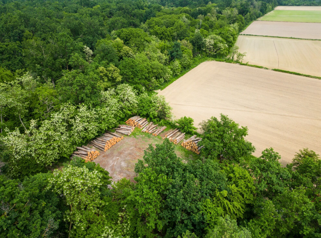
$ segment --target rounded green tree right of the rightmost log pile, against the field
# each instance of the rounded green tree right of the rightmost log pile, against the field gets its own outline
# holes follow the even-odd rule
[[[204,137],[201,145],[204,145],[202,154],[221,160],[238,161],[241,157],[254,152],[251,142],[245,140],[247,127],[242,126],[221,114],[221,120],[211,117],[200,123]]]

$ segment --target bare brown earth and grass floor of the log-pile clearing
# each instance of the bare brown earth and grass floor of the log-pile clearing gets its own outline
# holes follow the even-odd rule
[[[116,143],[108,151],[100,151],[100,156],[93,161],[109,172],[112,181],[117,182],[122,178],[126,178],[134,182],[134,177],[136,176],[134,169],[138,159],[143,159],[144,150],[150,144],[155,147],[157,143],[163,143],[161,137],[166,134],[166,131],[168,130],[158,136],[153,136],[135,128],[130,136],[124,136],[123,140]],[[186,150],[181,145],[174,146],[178,157],[184,159],[183,162],[199,158],[198,155]]]

